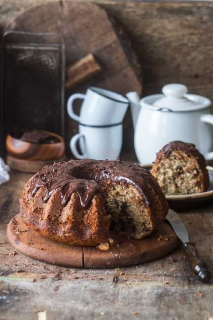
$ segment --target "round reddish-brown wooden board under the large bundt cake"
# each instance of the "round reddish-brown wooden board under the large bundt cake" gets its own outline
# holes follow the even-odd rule
[[[168,236],[168,241],[158,240]],[[150,236],[141,240],[122,237],[111,231],[114,244],[109,251],[96,247],[72,246],[54,241],[28,228],[20,214],[9,223],[7,236],[11,244],[22,253],[47,263],[79,268],[130,266],[160,258],[180,246],[171,226],[163,222]]]

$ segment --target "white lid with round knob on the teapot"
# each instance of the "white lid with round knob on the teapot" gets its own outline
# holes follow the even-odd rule
[[[207,108],[211,101],[208,98],[187,94],[187,86],[180,83],[166,84],[160,95],[148,96],[141,99],[145,107],[161,111],[193,111]]]

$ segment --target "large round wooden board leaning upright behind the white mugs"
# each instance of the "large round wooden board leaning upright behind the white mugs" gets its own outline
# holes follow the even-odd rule
[[[131,41],[123,28],[95,4],[64,0],[43,3],[15,17],[5,27],[4,32],[8,30],[58,33],[65,41],[66,66],[92,53],[102,69],[102,72],[65,92],[66,153],[70,153],[70,138],[78,132],[78,123],[69,118],[66,111],[66,102],[70,95],[85,93],[89,85],[97,85],[122,95],[136,91],[141,96],[141,69]],[[44,37],[43,41],[50,39]],[[81,103],[82,101],[75,102],[77,114]],[[129,126],[130,121],[128,110],[124,129]]]

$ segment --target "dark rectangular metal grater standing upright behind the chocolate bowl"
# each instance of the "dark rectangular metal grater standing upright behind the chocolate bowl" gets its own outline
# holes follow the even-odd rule
[[[59,34],[8,31],[2,37],[1,153],[14,128],[64,137],[65,44]]]

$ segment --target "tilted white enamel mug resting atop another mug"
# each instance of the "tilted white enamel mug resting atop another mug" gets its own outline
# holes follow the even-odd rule
[[[73,102],[83,99],[80,115],[73,111]],[[76,93],[67,101],[67,112],[69,117],[80,124],[90,126],[108,126],[121,124],[129,100],[120,94],[110,90],[90,86],[86,94]]]

